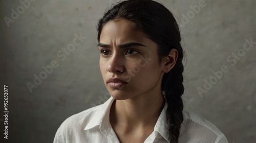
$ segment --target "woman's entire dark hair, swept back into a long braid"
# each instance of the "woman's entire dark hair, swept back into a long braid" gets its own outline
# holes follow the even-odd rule
[[[148,38],[158,45],[159,62],[167,56],[171,49],[178,50],[176,65],[165,73],[161,83],[161,90],[168,103],[166,118],[169,131],[169,141],[178,142],[180,127],[183,122],[183,102],[181,95],[183,86],[183,49],[177,22],[173,14],[162,4],[151,0],[123,1],[104,13],[97,25],[98,42],[102,27],[110,20],[123,18],[135,23],[136,28],[144,32]]]

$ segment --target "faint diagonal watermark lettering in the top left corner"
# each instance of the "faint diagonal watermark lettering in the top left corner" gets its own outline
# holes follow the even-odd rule
[[[20,0],[19,3],[21,5],[16,8],[16,11],[14,9],[11,9],[12,11],[11,18],[7,16],[4,17],[7,27],[10,27],[10,23],[18,19],[19,15],[23,14],[25,10],[30,7],[30,3],[34,3],[35,1],[36,0],[25,0],[25,1]]]

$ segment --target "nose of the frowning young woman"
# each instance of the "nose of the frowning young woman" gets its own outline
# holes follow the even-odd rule
[[[123,58],[118,53],[114,53],[108,63],[108,71],[112,73],[122,73],[124,71]]]

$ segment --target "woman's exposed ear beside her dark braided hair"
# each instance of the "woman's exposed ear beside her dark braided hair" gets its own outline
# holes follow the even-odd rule
[[[178,59],[178,51],[173,48],[169,54],[162,59],[163,69],[162,72],[167,73],[173,69]]]

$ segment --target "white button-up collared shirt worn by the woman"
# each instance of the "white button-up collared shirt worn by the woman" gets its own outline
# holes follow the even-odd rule
[[[110,97],[104,104],[84,110],[66,119],[58,128],[54,143],[118,143],[119,140],[110,124],[110,108],[114,98]],[[166,108],[157,120],[154,131],[144,143],[167,143],[168,130]],[[180,129],[180,143],[227,143],[224,134],[216,126],[199,118],[188,110],[183,110],[184,120]]]

